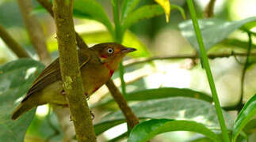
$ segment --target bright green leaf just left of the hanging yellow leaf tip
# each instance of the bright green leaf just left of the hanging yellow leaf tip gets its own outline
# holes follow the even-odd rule
[[[124,32],[127,28],[131,27],[132,24],[135,24],[138,21],[156,17],[162,15],[163,13],[164,10],[159,5],[141,6],[124,19],[122,32]]]

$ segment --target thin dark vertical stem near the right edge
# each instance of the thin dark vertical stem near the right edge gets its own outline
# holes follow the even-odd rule
[[[243,66],[243,71],[242,71],[242,77],[241,77],[241,96],[240,96],[240,100],[239,100],[239,111],[242,110],[243,108],[243,91],[244,91],[244,79],[246,76],[246,69],[248,68],[249,65],[249,58],[250,58],[250,50],[251,50],[251,45],[252,45],[252,39],[251,39],[251,34],[250,32],[247,32],[248,34],[248,38],[249,38],[249,46],[247,49],[247,54],[246,54],[246,62],[244,63]]]

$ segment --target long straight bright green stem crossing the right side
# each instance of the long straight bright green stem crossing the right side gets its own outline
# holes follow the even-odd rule
[[[197,42],[198,42],[198,45],[199,45],[200,51],[201,51],[202,63],[204,65],[204,68],[205,68],[205,71],[206,71],[206,74],[207,74],[207,77],[208,77],[208,83],[209,83],[211,91],[212,91],[212,99],[215,103],[216,113],[218,115],[218,119],[219,119],[219,122],[220,122],[220,128],[222,130],[222,136],[223,136],[223,139],[224,139],[225,142],[229,142],[230,139],[229,139],[229,136],[228,136],[228,133],[227,133],[227,127],[225,125],[224,115],[223,115],[221,107],[220,107],[220,101],[218,99],[218,95],[217,95],[217,92],[216,92],[216,87],[215,87],[214,80],[213,80],[213,77],[212,77],[212,71],[211,71],[211,68],[210,68],[210,65],[209,65],[209,62],[208,62],[207,53],[206,53],[206,50],[204,48],[203,38],[201,36],[201,31],[200,31],[199,24],[198,24],[198,21],[197,21],[197,13],[196,13],[195,8],[193,6],[193,0],[186,0],[186,2],[188,3],[188,6],[189,6],[189,12],[190,12],[191,17],[192,17],[193,27],[194,27],[194,30],[196,32]]]

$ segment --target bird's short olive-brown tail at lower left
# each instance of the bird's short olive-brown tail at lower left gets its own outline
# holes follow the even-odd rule
[[[24,114],[26,111],[31,110],[33,107],[36,107],[31,102],[25,101],[23,103],[20,103],[19,106],[15,108],[12,114],[12,119],[15,120],[21,116],[21,114]]]

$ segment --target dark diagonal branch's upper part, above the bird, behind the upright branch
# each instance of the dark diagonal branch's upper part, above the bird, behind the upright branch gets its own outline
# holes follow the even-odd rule
[[[40,3],[40,5],[43,6],[44,9],[46,9],[52,17],[54,17],[51,2],[49,2],[48,0],[37,0],[37,2]],[[87,44],[83,41],[82,37],[78,35],[78,32],[75,32],[75,38],[79,48],[88,48]]]

